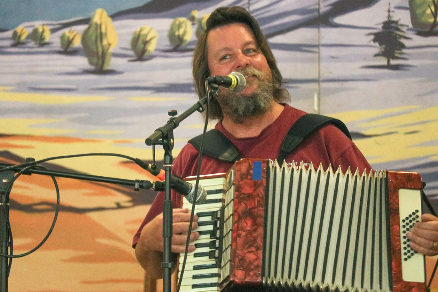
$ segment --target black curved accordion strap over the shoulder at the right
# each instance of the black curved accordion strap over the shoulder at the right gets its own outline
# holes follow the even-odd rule
[[[284,137],[280,155],[278,157],[279,164],[283,164],[287,154],[297,148],[307,136],[327,124],[335,125],[351,140],[350,132],[342,121],[321,114],[305,114],[292,125],[289,132],[287,132]]]

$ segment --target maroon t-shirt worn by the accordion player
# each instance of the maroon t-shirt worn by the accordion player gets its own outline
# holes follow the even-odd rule
[[[240,157],[276,160],[286,133],[293,123],[304,114],[306,114],[304,111],[297,110],[286,104],[283,112],[271,125],[261,131],[258,136],[251,138],[234,137],[223,128],[221,122],[217,123],[215,128],[222,132],[237,147]],[[196,175],[198,156],[198,150],[188,143],[173,162],[172,173],[181,178]],[[324,169],[331,166],[335,171],[338,167],[341,167],[344,173],[348,167],[350,167],[352,172],[356,169],[360,173],[365,169],[371,170],[370,164],[368,164],[364,155],[357,149],[353,141],[333,125],[326,125],[319,131],[312,133],[292,153],[289,153],[285,162],[289,166],[292,163],[299,166],[303,162],[306,167],[313,163],[315,169],[318,168],[319,164],[322,164]],[[203,155],[200,173],[215,174],[227,172],[232,166],[233,163],[223,162]],[[159,192],[145,220],[134,235],[133,246],[137,244],[143,226],[162,213],[163,201],[164,192]],[[173,191],[172,201],[173,208],[181,207],[180,195]]]

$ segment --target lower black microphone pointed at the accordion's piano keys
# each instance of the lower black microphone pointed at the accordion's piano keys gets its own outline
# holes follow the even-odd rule
[[[143,160],[136,159],[135,162],[143,169],[150,172],[152,175],[156,176],[159,180],[164,180],[165,171],[160,168],[152,168],[152,164],[148,164]],[[195,185],[184,181],[184,179],[177,177],[174,174],[170,174],[170,188],[175,192],[180,193],[185,196],[189,203],[193,203],[193,200],[196,198],[196,203],[201,204],[207,199],[207,191],[201,186],[198,185],[198,192],[196,195],[194,194]],[[155,191],[164,191],[164,182],[154,182],[153,189]]]

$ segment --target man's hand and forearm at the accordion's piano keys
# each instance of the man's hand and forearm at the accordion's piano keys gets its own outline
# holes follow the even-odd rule
[[[189,230],[190,214],[188,209],[173,209],[172,252],[183,253],[186,248]],[[194,215],[192,230],[198,228],[198,216]],[[198,232],[191,232],[190,241],[198,239]],[[159,214],[143,227],[135,246],[135,256],[145,271],[154,278],[162,278],[163,253],[163,214]],[[189,252],[194,251],[194,245],[189,245]]]

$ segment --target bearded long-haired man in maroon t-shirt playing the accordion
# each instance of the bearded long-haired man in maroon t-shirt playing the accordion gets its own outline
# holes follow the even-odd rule
[[[283,78],[268,43],[257,21],[242,7],[220,7],[207,20],[207,29],[198,39],[193,54],[193,76],[195,90],[200,98],[205,92],[205,79],[226,76],[231,72],[242,73],[247,85],[234,93],[221,88],[221,94],[211,103],[209,118],[219,120],[215,129],[237,147],[242,158],[261,158],[276,160],[279,157],[283,138],[298,118],[306,114],[287,103],[290,96],[282,87]],[[187,177],[197,173],[199,152],[188,143],[173,163],[173,174]],[[371,170],[365,157],[356,145],[334,125],[326,125],[314,132],[289,153],[285,162],[321,164],[324,169],[348,167],[362,173]],[[201,174],[214,174],[229,171],[233,163],[219,161],[204,155],[201,161]],[[163,193],[159,193],[152,207],[134,236],[133,246],[141,266],[156,278],[162,277],[162,206]],[[173,238],[172,252],[185,250],[190,214],[180,209],[180,195],[172,192],[173,200]],[[436,255],[438,241],[438,219],[423,215],[423,227],[412,228],[408,237],[411,246],[418,252]],[[195,215],[193,229],[198,227]],[[415,231],[413,231],[415,230]],[[191,241],[199,237],[191,234]],[[194,251],[193,245],[189,251]],[[175,256],[176,259],[176,256]]]

